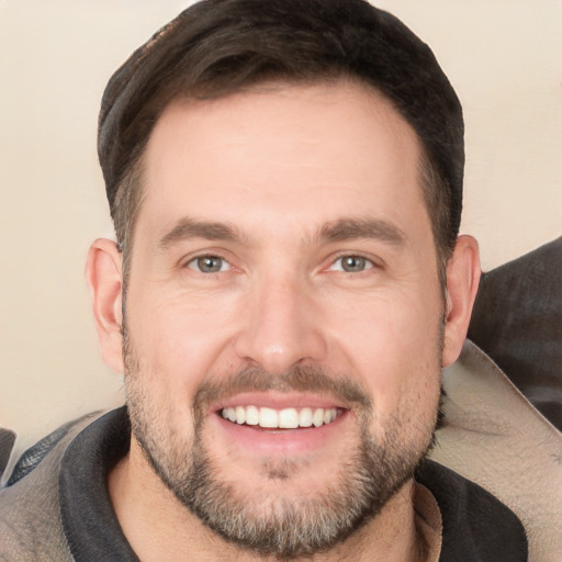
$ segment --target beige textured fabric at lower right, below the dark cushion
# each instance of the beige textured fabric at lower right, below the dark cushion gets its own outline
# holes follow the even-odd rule
[[[430,458],[519,517],[529,562],[562,562],[562,434],[470,341],[443,389],[446,425]]]

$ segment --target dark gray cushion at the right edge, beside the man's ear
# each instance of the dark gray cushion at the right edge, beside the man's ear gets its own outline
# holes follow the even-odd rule
[[[483,276],[469,338],[562,430],[562,237]]]

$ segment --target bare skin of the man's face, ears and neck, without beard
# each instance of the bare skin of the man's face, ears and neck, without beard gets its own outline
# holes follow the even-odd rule
[[[440,368],[460,353],[480,267],[475,240],[459,237],[443,305],[419,157],[416,134],[392,105],[347,82],[276,85],[165,110],[144,156],[146,198],[126,295],[135,360],[128,384],[159,413],[154,431],[165,446],[189,447],[202,384],[246,368],[279,378],[300,366],[362,389],[373,405],[368,429],[376,442],[392,428],[402,448],[424,453]],[[232,236],[211,232],[210,223]],[[353,233],[350,223],[369,228]],[[344,235],[334,225],[344,225]],[[198,270],[201,256],[222,258],[221,271]],[[341,256],[363,257],[366,268],[347,272]],[[123,276],[113,241],[92,245],[87,279],[104,360],[123,372]],[[254,443],[220,418],[223,403],[213,404],[203,435],[218,476],[258,515],[269,497],[299,501],[333,485],[358,442],[356,409],[324,391],[246,394],[227,400],[336,403],[344,415],[322,439],[285,431],[284,441],[272,432]],[[286,460],[291,477],[268,476],[265,461]],[[109,486],[143,561],[187,553],[190,560],[260,559],[186,509],[135,438]],[[412,493],[408,481],[378,517],[312,560],[420,560]]]

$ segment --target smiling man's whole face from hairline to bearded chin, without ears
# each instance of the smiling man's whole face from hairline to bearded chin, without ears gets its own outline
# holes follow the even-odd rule
[[[209,527],[325,550],[432,436],[442,299],[414,131],[349,83],[177,101],[126,295],[135,440]]]

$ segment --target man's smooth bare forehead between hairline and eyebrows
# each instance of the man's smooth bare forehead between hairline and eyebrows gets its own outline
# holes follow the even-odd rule
[[[407,221],[401,215],[425,212],[420,153],[392,103],[357,83],[273,83],[215,100],[176,100],[144,155],[140,215],[233,222],[254,211],[286,224],[312,221],[312,212],[327,222],[339,210]]]

